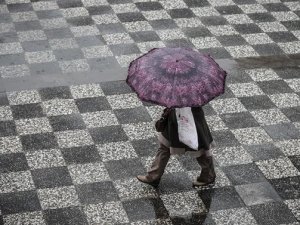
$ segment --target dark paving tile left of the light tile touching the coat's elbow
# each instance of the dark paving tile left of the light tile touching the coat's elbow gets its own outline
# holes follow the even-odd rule
[[[121,126],[99,127],[90,129],[96,143],[127,141],[128,137]]]

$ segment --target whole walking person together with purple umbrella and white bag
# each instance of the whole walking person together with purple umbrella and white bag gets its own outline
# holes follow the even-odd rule
[[[127,84],[142,100],[166,107],[156,122],[160,146],[146,175],[157,187],[173,154],[191,154],[201,172],[193,186],[214,185],[213,138],[202,106],[225,91],[227,73],[207,54],[189,48],[155,48],[133,60]]]

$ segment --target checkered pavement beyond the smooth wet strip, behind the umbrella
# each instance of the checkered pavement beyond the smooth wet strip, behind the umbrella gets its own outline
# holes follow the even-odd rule
[[[153,47],[300,53],[295,0],[1,0],[0,77],[126,67]]]

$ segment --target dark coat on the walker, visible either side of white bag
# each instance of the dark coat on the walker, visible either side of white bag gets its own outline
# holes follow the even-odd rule
[[[192,113],[198,134],[198,150],[209,150],[210,144],[213,142],[213,138],[205,120],[203,109],[202,107],[192,107]],[[179,141],[175,109],[170,111],[168,115],[168,125],[162,132],[162,135],[170,142],[171,147],[189,149],[188,146]]]

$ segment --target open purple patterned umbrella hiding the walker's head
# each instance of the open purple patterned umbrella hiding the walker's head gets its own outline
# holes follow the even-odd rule
[[[224,93],[226,72],[208,55],[187,48],[155,48],[132,61],[127,84],[147,102],[194,107]]]

